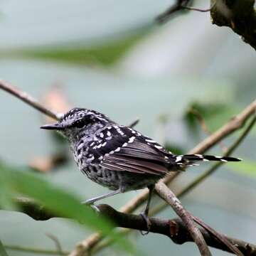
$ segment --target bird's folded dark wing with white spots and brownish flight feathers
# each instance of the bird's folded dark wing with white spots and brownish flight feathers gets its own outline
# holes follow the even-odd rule
[[[169,154],[162,146],[129,127],[106,127],[89,149],[100,160],[100,166],[112,171],[164,176]],[[92,152],[91,152],[92,153]]]

